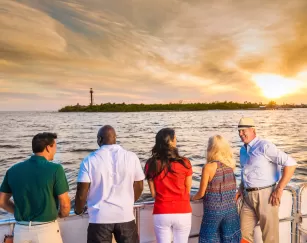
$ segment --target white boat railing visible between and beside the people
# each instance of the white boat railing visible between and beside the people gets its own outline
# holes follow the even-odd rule
[[[194,229],[191,230],[190,238],[198,237],[198,231],[200,227],[200,222],[202,218],[202,200],[191,202],[193,213],[192,213],[192,225],[194,225]],[[151,217],[152,207],[154,205],[154,201],[145,201],[138,202],[134,205],[134,213],[136,219],[137,230],[140,238],[144,239],[141,242],[149,242],[151,240],[147,240],[147,238],[152,239],[153,237],[153,229],[152,222],[148,221],[149,217]],[[291,208],[290,208],[291,207]],[[196,210],[195,210],[196,209]],[[83,218],[83,224],[86,224],[88,215],[85,213],[82,216],[76,216],[73,211],[70,212],[70,216],[65,219],[60,219],[61,223],[69,223],[69,220],[75,220],[79,217]],[[196,222],[193,222],[196,221]],[[152,220],[151,220],[152,221]],[[10,217],[6,219],[0,220],[0,226],[5,226],[6,228],[11,227],[16,223],[15,219]],[[151,226],[145,226],[145,223],[151,224]],[[147,227],[147,228],[146,228]],[[257,227],[256,227],[257,228]],[[259,228],[259,226],[258,226]],[[282,204],[280,208],[280,236],[288,237],[288,240],[283,240],[281,242],[291,242],[291,243],[302,243],[307,242],[307,183],[296,185],[296,186],[287,186],[283,193]],[[258,238],[255,239],[255,242],[262,242],[261,233]],[[150,234],[150,237],[145,237],[144,234]],[[290,236],[291,234],[291,236]],[[146,240],[145,240],[145,238]],[[259,238],[260,237],[260,238]],[[281,238],[282,239],[282,238]],[[151,241],[152,242],[152,241]]]

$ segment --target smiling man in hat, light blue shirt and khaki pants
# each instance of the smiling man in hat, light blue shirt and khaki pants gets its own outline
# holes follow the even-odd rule
[[[243,117],[238,130],[244,143],[240,150],[242,182],[237,195],[244,195],[240,214],[242,242],[253,242],[254,228],[259,222],[263,242],[278,243],[278,209],[296,161],[273,143],[258,138],[253,119]]]

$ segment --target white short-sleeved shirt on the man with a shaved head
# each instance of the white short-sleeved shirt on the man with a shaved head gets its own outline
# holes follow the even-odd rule
[[[90,223],[124,223],[134,220],[134,181],[145,175],[135,153],[119,145],[103,145],[80,165],[78,182],[87,182]]]

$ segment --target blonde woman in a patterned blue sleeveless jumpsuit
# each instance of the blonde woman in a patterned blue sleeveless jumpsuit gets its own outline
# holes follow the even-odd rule
[[[240,219],[235,195],[235,160],[229,143],[220,135],[209,138],[207,164],[203,167],[198,192],[192,200],[203,198],[204,215],[199,242],[238,243]]]

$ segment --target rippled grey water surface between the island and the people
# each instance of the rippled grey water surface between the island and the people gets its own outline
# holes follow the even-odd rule
[[[253,117],[260,137],[272,141],[298,161],[299,167],[292,181],[307,181],[307,109],[141,113],[0,112],[0,180],[2,182],[10,166],[31,155],[31,140],[36,133],[56,132],[58,152],[55,162],[63,165],[73,198],[79,164],[86,155],[97,149],[98,129],[110,124],[116,129],[118,143],[135,152],[143,166],[150,156],[158,130],[174,128],[180,154],[188,157],[193,164],[193,187],[197,188],[210,136],[224,135],[231,142],[239,164],[241,142],[236,128],[242,116]],[[238,179],[239,173],[240,169],[237,168]],[[148,192],[146,185],[145,196]]]

